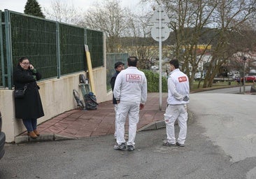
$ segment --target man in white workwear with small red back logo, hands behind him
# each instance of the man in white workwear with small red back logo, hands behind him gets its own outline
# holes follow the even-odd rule
[[[185,73],[179,69],[177,59],[170,61],[171,73],[168,78],[168,106],[164,113],[167,140],[163,142],[166,146],[185,146],[187,136],[187,103],[189,103],[190,83]],[[180,132],[176,142],[174,123],[178,120]]]

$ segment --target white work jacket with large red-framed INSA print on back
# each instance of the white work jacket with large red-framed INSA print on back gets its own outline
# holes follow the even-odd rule
[[[120,71],[113,94],[116,100],[124,103],[145,103],[147,100],[147,79],[142,71],[134,66]]]

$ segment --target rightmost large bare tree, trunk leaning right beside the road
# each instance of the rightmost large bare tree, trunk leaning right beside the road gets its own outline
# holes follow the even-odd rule
[[[243,31],[243,24],[246,24],[248,20],[253,18],[256,2],[247,0],[215,0],[215,3],[218,4],[218,6],[213,16],[213,19],[215,19],[213,24],[215,24],[216,29],[218,29],[218,36],[216,36],[215,39],[212,59],[206,73],[206,80],[204,80],[203,87],[211,87],[213,79],[219,69],[227,64],[234,53],[237,51],[245,52],[247,49],[246,45],[242,44],[234,48],[232,41],[239,41],[239,38],[233,35],[234,32],[240,33]]]

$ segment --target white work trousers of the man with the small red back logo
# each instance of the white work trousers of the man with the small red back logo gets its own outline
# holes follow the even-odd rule
[[[187,105],[176,104],[168,105],[164,114],[166,124],[166,135],[169,143],[176,143],[174,123],[178,120],[180,132],[178,134],[178,143],[184,144],[187,136]]]

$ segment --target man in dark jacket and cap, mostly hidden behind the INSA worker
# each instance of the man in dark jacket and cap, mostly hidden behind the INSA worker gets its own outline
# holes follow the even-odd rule
[[[112,92],[114,90],[115,87],[115,79],[118,76],[118,74],[120,73],[120,71],[122,71],[124,69],[125,64],[123,62],[116,62],[115,63],[115,74],[112,76],[111,78],[111,88],[112,88]],[[115,100],[114,95],[113,95],[113,104],[115,106],[115,116],[116,113],[118,111],[118,102]],[[117,129],[117,124],[116,124],[116,120],[115,120],[115,138],[116,138],[116,129]]]

